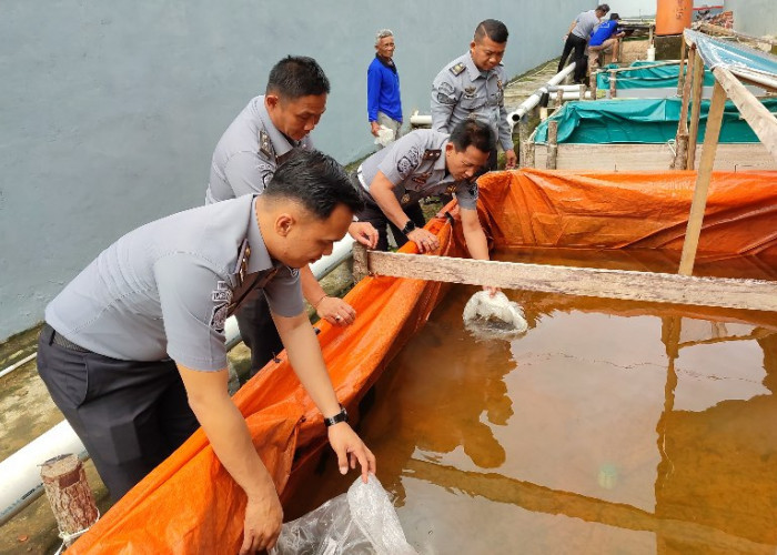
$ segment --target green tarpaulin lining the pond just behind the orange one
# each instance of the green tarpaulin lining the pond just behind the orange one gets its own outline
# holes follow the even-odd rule
[[[777,112],[777,99],[763,104]],[[665,143],[673,141],[682,108],[680,99],[597,100],[567,102],[537,127],[535,142],[547,142],[547,122],[558,120],[558,142],[578,144]],[[702,101],[698,142],[704,141],[709,101]],[[688,110],[690,113],[690,110]],[[731,102],[723,114],[720,142],[759,142]]]

